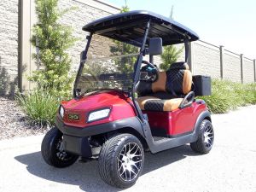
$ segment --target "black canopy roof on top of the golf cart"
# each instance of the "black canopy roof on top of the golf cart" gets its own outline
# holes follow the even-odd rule
[[[149,19],[151,19],[151,25],[148,38],[162,38],[163,45],[180,44],[185,38],[189,41],[199,39],[195,32],[175,20],[143,10],[110,15],[94,20],[84,26],[83,30],[140,46]]]

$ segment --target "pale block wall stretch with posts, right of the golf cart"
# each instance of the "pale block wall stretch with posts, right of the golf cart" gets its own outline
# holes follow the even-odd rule
[[[190,66],[194,75],[209,75],[214,79],[229,79],[241,83],[256,82],[255,60],[226,50],[224,46],[201,40],[192,42],[190,47]],[[179,60],[183,61],[184,57]]]

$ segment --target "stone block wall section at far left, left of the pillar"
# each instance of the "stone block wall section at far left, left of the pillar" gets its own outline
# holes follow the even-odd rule
[[[18,0],[0,1],[0,95],[15,90],[18,76]]]

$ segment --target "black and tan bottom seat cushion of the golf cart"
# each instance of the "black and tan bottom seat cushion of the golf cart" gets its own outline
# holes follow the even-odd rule
[[[141,96],[137,102],[142,110],[148,111],[173,111],[177,109],[183,98],[159,99],[154,96]]]

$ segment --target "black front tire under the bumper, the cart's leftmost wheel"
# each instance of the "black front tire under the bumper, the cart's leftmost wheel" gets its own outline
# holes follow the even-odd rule
[[[69,154],[61,149],[63,134],[56,127],[49,130],[41,144],[42,156],[49,166],[67,167],[73,165],[79,156]]]

